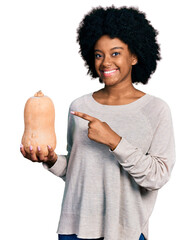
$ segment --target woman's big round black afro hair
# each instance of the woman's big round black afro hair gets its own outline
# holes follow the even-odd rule
[[[77,42],[88,74],[97,78],[94,66],[94,45],[103,35],[118,38],[128,45],[138,63],[132,69],[132,82],[146,84],[161,59],[156,36],[158,31],[146,19],[145,13],[135,7],[114,6],[93,8],[84,16],[77,29]],[[102,83],[102,80],[99,79]]]

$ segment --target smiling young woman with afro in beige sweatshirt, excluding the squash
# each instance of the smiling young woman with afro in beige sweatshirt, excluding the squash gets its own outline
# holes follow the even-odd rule
[[[146,84],[160,60],[157,31],[136,8],[95,8],[77,41],[92,78],[104,87],[74,100],[66,156],[49,147],[24,157],[43,162],[66,182],[59,239],[148,239],[158,189],[174,161],[171,113]]]

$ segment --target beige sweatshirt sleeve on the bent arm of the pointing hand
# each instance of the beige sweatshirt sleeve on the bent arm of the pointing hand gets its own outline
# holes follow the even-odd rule
[[[147,153],[144,154],[123,137],[111,152],[138,185],[147,190],[161,188],[169,180],[175,162],[174,133],[169,107],[166,105],[161,111]]]

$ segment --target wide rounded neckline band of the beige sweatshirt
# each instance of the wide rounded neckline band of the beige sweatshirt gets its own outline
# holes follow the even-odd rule
[[[139,108],[143,106],[145,102],[151,97],[148,93],[140,97],[139,99],[123,104],[123,105],[105,105],[102,103],[97,102],[93,97],[93,92],[86,95],[88,97],[87,102],[90,103],[95,109],[108,109],[108,110],[115,110],[115,109],[126,109],[126,108]]]

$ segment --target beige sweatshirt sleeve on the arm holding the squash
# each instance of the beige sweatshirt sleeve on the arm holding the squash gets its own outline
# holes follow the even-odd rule
[[[63,180],[65,180],[66,177],[67,165],[73,145],[72,133],[74,129],[74,122],[73,117],[70,114],[70,108],[68,113],[68,127],[67,127],[67,155],[58,155],[56,163],[51,168],[49,168],[45,163],[43,163],[45,169],[55,174],[56,176],[61,177]]]

